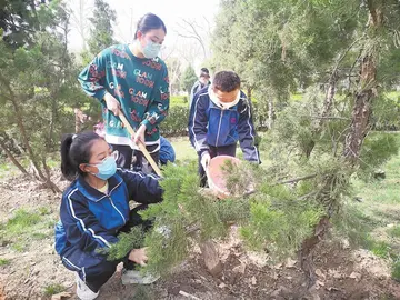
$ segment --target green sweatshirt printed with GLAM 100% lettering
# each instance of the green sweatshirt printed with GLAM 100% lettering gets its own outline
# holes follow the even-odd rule
[[[133,56],[128,44],[104,49],[78,77],[86,93],[99,99],[103,108],[106,140],[136,148],[121,120],[108,111],[103,97],[112,94],[134,130],[146,126],[146,143],[159,143],[159,124],[169,108],[169,81],[166,63],[160,58]]]

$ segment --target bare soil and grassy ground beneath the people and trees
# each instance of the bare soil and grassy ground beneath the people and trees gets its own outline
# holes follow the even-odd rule
[[[174,147],[179,159],[193,158],[187,141]],[[400,236],[399,167],[397,157],[384,166],[384,180],[354,181],[358,198],[349,206],[362,211],[358,217],[368,227],[369,243],[353,248],[351,239],[332,232],[316,249],[311,288],[296,258],[267,263],[267,254],[243,249],[232,227],[230,239],[219,241],[220,277],[206,271],[194,247],[189,260],[149,287],[123,287],[118,271],[99,299],[400,299],[400,284],[391,279]],[[57,171],[53,179],[61,188],[68,184]],[[59,203],[60,194],[18,173],[0,182],[0,299],[51,299],[61,291],[70,293],[62,299],[77,299],[73,274],[53,249]]]

